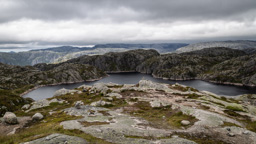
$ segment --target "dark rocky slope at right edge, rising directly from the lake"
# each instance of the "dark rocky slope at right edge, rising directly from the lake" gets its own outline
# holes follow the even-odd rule
[[[234,57],[214,65],[203,79],[217,83],[256,85],[256,54]]]

